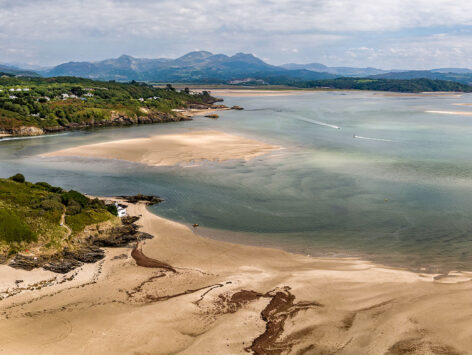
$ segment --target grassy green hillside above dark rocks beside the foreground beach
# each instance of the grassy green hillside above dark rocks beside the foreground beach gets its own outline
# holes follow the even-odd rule
[[[20,180],[23,182],[13,177],[0,179],[0,254],[64,246],[70,236],[67,228],[61,226],[63,213],[74,234],[87,225],[114,218],[109,207],[98,199],[45,182]]]

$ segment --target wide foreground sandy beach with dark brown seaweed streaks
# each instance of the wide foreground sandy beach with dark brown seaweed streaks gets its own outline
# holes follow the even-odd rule
[[[65,276],[1,266],[0,291],[8,288],[12,295],[0,301],[0,353],[460,354],[472,349],[471,274],[435,277],[355,259],[230,244],[200,237],[142,204],[130,205],[128,212],[142,215],[141,229],[155,236],[135,256],[166,268],[136,265],[131,248],[108,249],[101,262]],[[14,282],[19,277],[25,288],[20,291]],[[71,280],[39,290],[25,287],[53,277]]]

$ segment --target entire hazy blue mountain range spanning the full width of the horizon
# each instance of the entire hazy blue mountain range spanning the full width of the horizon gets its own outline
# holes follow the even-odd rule
[[[358,77],[372,79],[418,79],[455,81],[472,84],[472,70],[438,68],[431,70],[385,70],[378,68],[329,67],[320,63],[270,65],[252,54],[233,56],[195,51],[176,59],[145,59],[122,55],[97,62],[68,62],[53,68],[21,69],[0,65],[0,73],[45,77],[77,76],[95,80],[199,82],[199,83],[268,83],[294,84],[300,81]]]

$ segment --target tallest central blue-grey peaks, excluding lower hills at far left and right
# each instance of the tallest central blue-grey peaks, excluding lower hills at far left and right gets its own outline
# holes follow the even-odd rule
[[[297,80],[333,76],[307,69],[288,70],[265,63],[252,54],[233,56],[206,51],[190,52],[177,59],[142,59],[122,55],[99,62],[69,62],[42,71],[44,76],[79,76],[96,80],[143,80],[159,82],[226,82],[248,76],[288,77]]]

